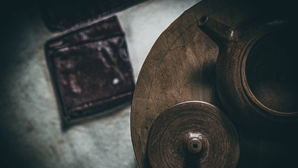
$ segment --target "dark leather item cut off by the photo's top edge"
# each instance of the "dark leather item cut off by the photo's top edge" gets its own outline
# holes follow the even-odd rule
[[[142,1],[144,0],[43,1],[40,3],[40,11],[48,29],[63,31]]]

